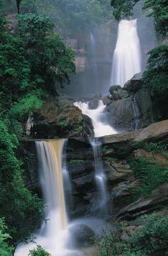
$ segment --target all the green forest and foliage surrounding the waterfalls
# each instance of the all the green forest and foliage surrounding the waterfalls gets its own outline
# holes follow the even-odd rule
[[[138,2],[139,0],[111,0],[111,3],[110,0],[0,0],[1,256],[14,255],[20,243],[32,241],[34,230],[45,220],[43,200],[27,182],[27,160],[22,153],[22,140],[26,138],[25,125],[29,115],[45,108],[50,99],[57,97],[62,88],[68,86],[71,76],[75,76],[75,52],[66,46],[64,40],[87,35],[90,28],[97,28],[110,19],[129,19]],[[154,20],[157,47],[148,52],[142,86],[150,92],[154,120],[159,122],[168,118],[167,0],[145,0],[143,12]],[[15,14],[15,31],[11,31],[11,14]],[[59,112],[63,111],[63,107],[57,108]],[[79,120],[79,124],[81,122]],[[75,129],[79,130],[80,126],[76,125]],[[59,127],[65,136],[66,121],[59,120]],[[74,129],[74,125],[71,129]],[[148,146],[151,146],[148,148],[151,154],[155,154],[157,150],[167,154],[165,143],[159,146],[151,143]],[[123,152],[121,156],[122,154]],[[135,173],[138,173],[136,175],[141,176],[141,196],[167,182],[166,166],[159,167],[155,164],[154,170],[148,161],[141,159],[137,164],[131,157],[128,159],[132,170],[135,169]],[[162,172],[162,175],[157,175],[156,172]],[[146,185],[146,180],[150,180],[151,187]],[[94,243],[100,255],[168,255],[166,214],[144,216],[143,221],[144,227],[128,241],[121,242],[120,237],[115,234],[95,237]],[[125,221],[119,223],[119,230],[123,230],[126,225]],[[50,254],[38,245],[29,255]]]

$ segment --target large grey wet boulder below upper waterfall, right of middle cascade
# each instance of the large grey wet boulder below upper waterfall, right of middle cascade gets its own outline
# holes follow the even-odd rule
[[[116,129],[134,131],[153,122],[151,97],[142,87],[141,73],[135,75],[123,88],[111,86],[111,95],[103,98],[109,112],[109,122]]]

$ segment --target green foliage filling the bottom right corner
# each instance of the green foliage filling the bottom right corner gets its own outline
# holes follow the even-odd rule
[[[168,217],[152,214],[142,217],[144,227],[132,234],[128,241],[121,239],[122,229],[103,238],[96,237],[101,256],[165,256],[167,251]]]

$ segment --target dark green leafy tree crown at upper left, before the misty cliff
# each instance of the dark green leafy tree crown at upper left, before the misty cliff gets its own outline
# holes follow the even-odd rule
[[[54,24],[34,13],[20,15],[19,20],[32,76],[45,81],[45,89],[49,92],[53,91],[50,81],[57,81],[61,86],[69,83],[69,74],[75,73],[75,56],[52,31]]]

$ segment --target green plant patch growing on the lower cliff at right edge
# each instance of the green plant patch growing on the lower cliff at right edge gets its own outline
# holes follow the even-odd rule
[[[148,197],[153,189],[168,182],[167,166],[155,163],[155,159],[139,158],[135,161],[132,158],[129,164],[132,170],[134,170],[135,177],[140,179],[140,186],[134,191],[134,199],[140,196]]]

